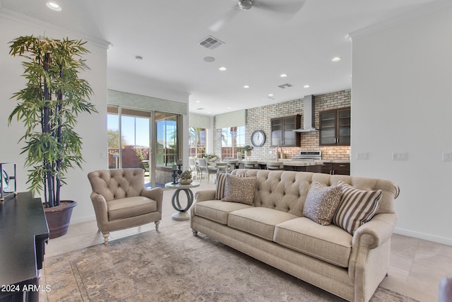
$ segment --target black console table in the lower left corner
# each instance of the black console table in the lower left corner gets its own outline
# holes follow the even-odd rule
[[[39,301],[49,228],[40,198],[18,193],[0,203],[0,302]]]

